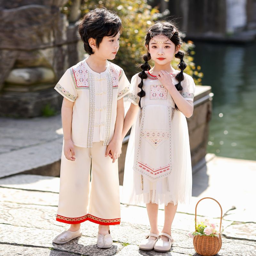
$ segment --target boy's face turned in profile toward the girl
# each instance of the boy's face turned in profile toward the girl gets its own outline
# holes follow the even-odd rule
[[[114,60],[119,49],[120,32],[116,36],[104,36],[99,48],[93,49],[94,54],[104,60]]]

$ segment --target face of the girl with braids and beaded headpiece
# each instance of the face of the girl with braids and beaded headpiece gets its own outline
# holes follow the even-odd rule
[[[170,63],[173,60],[174,54],[180,50],[180,45],[175,46],[168,37],[162,35],[152,37],[146,47],[151,55],[151,59],[158,65]]]

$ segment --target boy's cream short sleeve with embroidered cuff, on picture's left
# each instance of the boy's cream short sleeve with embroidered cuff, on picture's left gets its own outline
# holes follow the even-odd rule
[[[77,92],[69,69],[60,78],[60,81],[55,85],[54,89],[66,99],[75,102]]]

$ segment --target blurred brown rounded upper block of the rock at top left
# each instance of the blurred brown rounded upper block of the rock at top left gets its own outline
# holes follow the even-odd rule
[[[25,5],[0,11],[0,48],[32,50],[66,41],[66,15],[59,8]]]

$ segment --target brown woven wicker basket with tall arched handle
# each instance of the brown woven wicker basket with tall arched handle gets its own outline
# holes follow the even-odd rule
[[[213,199],[212,197],[204,197],[197,202],[196,208],[200,201],[202,201],[203,199],[207,199],[207,198],[216,201],[220,206],[220,203],[217,200]],[[221,215],[220,215],[220,230],[221,230],[221,221],[222,221],[221,206],[220,206],[220,211],[221,211]],[[196,227],[196,212],[195,212],[195,227]],[[194,248],[198,254],[203,255],[203,256],[215,255],[220,251],[220,248],[222,245],[221,234],[219,232],[219,236],[199,236],[199,235],[194,236],[193,244],[194,244]]]

